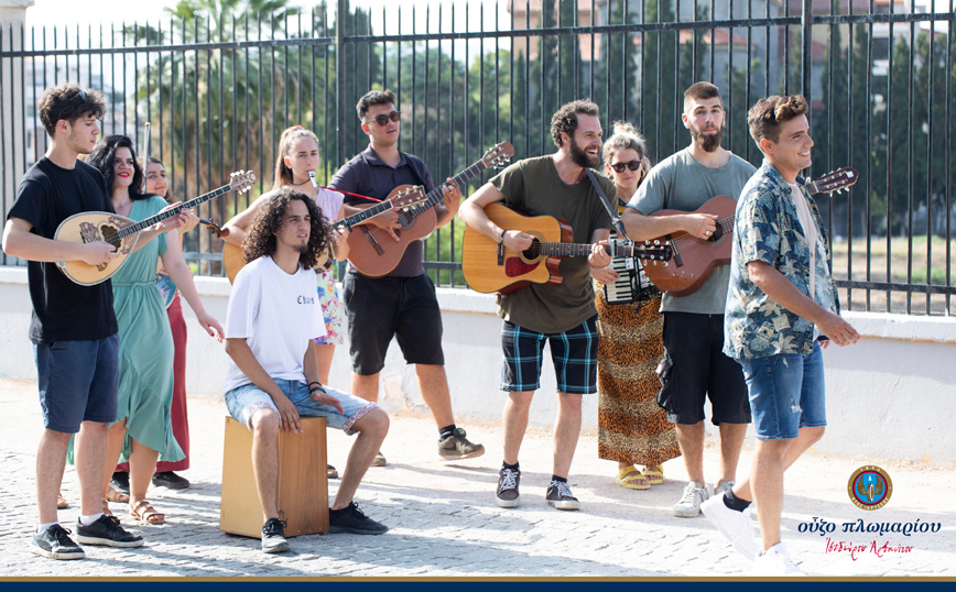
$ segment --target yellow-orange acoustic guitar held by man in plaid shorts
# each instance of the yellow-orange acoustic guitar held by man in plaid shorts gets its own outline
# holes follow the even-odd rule
[[[551,216],[525,216],[501,204],[485,207],[488,218],[504,230],[520,230],[534,237],[531,246],[518,252],[496,240],[465,227],[461,244],[461,271],[475,292],[511,294],[534,284],[561,284],[558,270],[566,256],[587,256],[590,243],[574,243],[572,228]],[[605,251],[612,257],[638,257],[666,261],[666,244],[634,244],[631,241],[608,241]]]

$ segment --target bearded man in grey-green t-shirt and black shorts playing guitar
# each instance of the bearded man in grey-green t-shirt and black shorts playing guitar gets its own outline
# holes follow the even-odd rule
[[[687,241],[721,238],[717,231],[718,217],[694,210],[718,195],[736,200],[757,171],[720,146],[725,117],[724,101],[716,86],[697,83],[687,88],[681,119],[693,141],[688,147],[654,166],[624,208],[621,219],[631,240],[643,241],[677,232],[689,234]],[[652,216],[665,208],[687,213]],[[723,239],[730,240],[726,235]],[[680,246],[682,241],[675,242]],[[669,265],[675,266],[677,262],[671,261]],[[709,497],[704,480],[705,396],[710,398],[710,420],[720,431],[720,476],[715,481],[715,494],[734,485],[740,448],[750,423],[743,374],[721,351],[729,274],[727,265],[717,266],[693,294],[675,296],[665,292],[661,303],[665,353],[658,370],[664,385],[658,402],[667,412],[667,420],[676,424],[677,442],[691,480],[674,505],[675,516],[697,516],[700,504]]]

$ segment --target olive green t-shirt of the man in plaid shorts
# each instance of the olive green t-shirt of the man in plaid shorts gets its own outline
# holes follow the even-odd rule
[[[613,183],[600,174],[595,177],[616,208]],[[521,213],[564,219],[571,224],[576,243],[590,242],[595,230],[612,228],[611,218],[587,175],[574,185],[564,183],[552,156],[517,162],[489,183],[504,194],[506,206]],[[563,279],[556,286],[531,284],[498,296],[498,316],[532,331],[560,333],[597,315],[587,257],[564,257],[560,270]]]

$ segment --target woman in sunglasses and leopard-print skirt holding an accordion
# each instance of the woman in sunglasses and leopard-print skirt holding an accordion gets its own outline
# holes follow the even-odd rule
[[[604,160],[617,187],[619,209],[651,168],[647,152],[647,141],[633,125],[615,123]],[[633,259],[612,260],[605,268],[591,270],[591,277],[600,336],[598,457],[617,461],[619,485],[647,490],[663,483],[664,461],[681,456],[674,426],[655,401],[660,385],[654,370],[664,355],[661,294]]]

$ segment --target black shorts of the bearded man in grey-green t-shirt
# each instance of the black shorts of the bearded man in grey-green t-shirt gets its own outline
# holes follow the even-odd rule
[[[658,403],[667,421],[693,426],[704,420],[749,424],[750,404],[740,364],[724,353],[724,315],[664,311],[664,365],[670,366]]]

